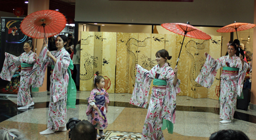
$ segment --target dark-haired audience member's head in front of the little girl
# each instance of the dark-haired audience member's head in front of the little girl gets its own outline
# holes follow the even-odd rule
[[[71,140],[95,140],[97,131],[87,120],[82,120],[73,129],[70,135]]]

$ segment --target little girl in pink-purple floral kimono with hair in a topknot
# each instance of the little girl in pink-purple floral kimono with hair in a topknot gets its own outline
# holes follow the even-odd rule
[[[103,89],[105,86],[105,79],[103,76],[99,76],[97,71],[94,74],[94,89],[89,97],[86,114],[88,121],[91,122],[96,129],[99,129],[97,138],[104,137],[103,129],[108,127],[108,121],[106,120],[106,113],[108,113],[109,94]]]

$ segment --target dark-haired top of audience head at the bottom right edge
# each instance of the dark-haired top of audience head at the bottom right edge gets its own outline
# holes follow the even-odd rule
[[[212,133],[209,140],[249,140],[249,138],[242,131],[229,129]]]

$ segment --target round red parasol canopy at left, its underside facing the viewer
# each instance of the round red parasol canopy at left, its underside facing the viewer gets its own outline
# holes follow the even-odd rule
[[[66,26],[66,17],[54,10],[29,14],[20,24],[22,32],[31,38],[48,38],[60,33]]]

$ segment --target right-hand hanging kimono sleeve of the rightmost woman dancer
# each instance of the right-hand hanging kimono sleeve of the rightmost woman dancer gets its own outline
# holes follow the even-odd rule
[[[240,61],[239,74],[238,74],[238,86],[237,86],[238,96],[240,96],[243,91],[244,78],[245,78],[246,71],[247,71],[248,67],[249,67],[248,64],[246,62],[244,62],[244,68],[243,68],[242,63]]]

